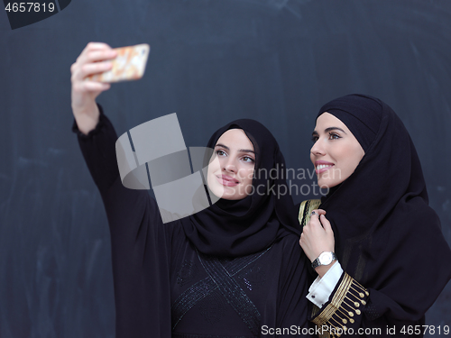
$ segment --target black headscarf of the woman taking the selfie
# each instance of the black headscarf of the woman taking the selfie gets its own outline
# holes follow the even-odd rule
[[[281,174],[285,160],[272,133],[262,123],[250,119],[228,123],[211,136],[207,147],[215,148],[219,137],[235,128],[242,129],[253,143],[253,191],[260,193],[235,201],[220,199],[182,223],[189,241],[209,255],[244,256],[262,251],[290,233],[299,235],[295,207],[285,175]],[[271,169],[275,170],[272,175]]]

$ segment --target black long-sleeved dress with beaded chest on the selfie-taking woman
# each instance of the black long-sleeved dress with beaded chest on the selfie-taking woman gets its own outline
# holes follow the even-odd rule
[[[235,259],[206,256],[181,220],[162,224],[146,191],[125,188],[113,125],[101,113],[78,142],[100,191],[112,243],[116,336],[308,336],[307,269],[296,235]]]

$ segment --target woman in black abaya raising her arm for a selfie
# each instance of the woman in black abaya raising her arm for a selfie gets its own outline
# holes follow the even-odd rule
[[[109,85],[85,80],[111,67],[106,59],[114,56],[91,43],[71,70],[74,132],[110,227],[116,336],[308,336],[307,260],[295,209],[290,196],[275,194],[288,190],[283,180],[258,175],[284,168],[271,132],[253,120],[215,132],[207,181],[222,198],[162,224],[152,197],[121,182],[117,136],[95,102]]]

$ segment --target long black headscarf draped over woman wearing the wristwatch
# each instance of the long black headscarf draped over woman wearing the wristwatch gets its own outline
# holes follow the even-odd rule
[[[451,251],[419,157],[400,118],[372,96],[339,97],[323,107],[364,148],[354,173],[323,199],[343,269],[370,288],[374,313],[419,320],[451,278]]]

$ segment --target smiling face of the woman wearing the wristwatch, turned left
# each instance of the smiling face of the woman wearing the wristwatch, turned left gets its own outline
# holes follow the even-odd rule
[[[310,160],[315,165],[319,187],[342,183],[364,157],[364,149],[353,133],[332,114],[319,115],[312,139],[315,144],[310,150]]]

